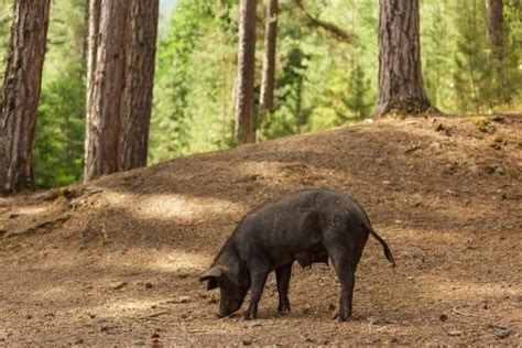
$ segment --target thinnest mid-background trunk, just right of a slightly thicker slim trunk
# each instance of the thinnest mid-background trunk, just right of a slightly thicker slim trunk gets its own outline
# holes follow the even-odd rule
[[[260,105],[264,110],[272,112],[274,107],[275,85],[275,43],[278,37],[278,0],[267,1],[264,32],[264,57],[261,76]]]

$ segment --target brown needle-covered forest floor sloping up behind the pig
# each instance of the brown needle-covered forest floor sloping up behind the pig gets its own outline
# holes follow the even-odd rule
[[[0,198],[0,346],[521,345],[521,174],[522,116],[443,117]],[[216,318],[219,292],[198,276],[248,210],[303,187],[354,196],[398,267],[370,238],[347,323],[317,264],[294,264],[290,314],[271,274],[257,320]]]

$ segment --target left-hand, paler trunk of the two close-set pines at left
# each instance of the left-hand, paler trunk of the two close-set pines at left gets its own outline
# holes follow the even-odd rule
[[[96,0],[93,0],[96,1]],[[121,100],[126,84],[126,36],[130,2],[101,0],[98,40],[91,23],[84,180],[119,171]],[[94,14],[94,13],[93,13]],[[95,47],[97,41],[97,47]],[[94,75],[94,76],[93,76]]]

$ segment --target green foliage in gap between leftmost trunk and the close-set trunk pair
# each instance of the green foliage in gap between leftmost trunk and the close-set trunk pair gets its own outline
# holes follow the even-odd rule
[[[34,141],[34,173],[41,187],[78,182],[83,173],[87,1],[51,7]]]

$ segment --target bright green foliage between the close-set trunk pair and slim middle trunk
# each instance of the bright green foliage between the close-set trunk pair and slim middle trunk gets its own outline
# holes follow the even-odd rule
[[[180,1],[160,39],[152,162],[227,144],[237,20],[233,1]]]

